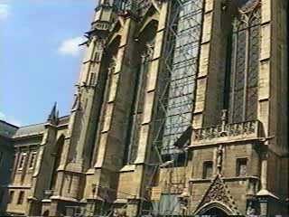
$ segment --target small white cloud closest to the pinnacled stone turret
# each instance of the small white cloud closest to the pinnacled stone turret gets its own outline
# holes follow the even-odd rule
[[[58,52],[62,55],[78,56],[82,51],[82,47],[79,46],[81,42],[84,42],[83,37],[66,39],[61,42]]]

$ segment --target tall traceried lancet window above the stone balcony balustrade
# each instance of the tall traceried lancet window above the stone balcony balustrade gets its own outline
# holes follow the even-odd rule
[[[228,117],[230,122],[256,119],[260,50],[260,0],[241,1],[233,20]]]

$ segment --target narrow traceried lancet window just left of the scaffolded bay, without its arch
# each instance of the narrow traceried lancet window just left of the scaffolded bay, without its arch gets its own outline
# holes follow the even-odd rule
[[[127,130],[125,165],[132,164],[137,155],[140,127],[144,114],[144,93],[154,55],[154,41],[147,42],[145,50],[141,55],[141,64],[135,79],[135,95],[129,117],[129,128]]]

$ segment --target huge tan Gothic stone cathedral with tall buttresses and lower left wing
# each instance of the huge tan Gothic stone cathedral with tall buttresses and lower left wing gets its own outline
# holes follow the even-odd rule
[[[289,214],[288,2],[95,11],[70,115],[14,134],[7,212]]]

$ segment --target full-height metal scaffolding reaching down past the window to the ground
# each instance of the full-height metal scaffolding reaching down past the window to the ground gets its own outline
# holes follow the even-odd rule
[[[179,199],[172,192],[174,184],[185,187],[184,169],[181,175],[175,174],[172,183],[172,172],[179,165],[180,155],[187,161],[185,146],[190,142],[192,111],[194,107],[196,77],[199,68],[200,38],[203,19],[203,0],[172,1],[167,27],[167,48],[163,57],[164,68],[160,74],[158,97],[158,115],[154,120],[157,134],[154,138],[154,150],[159,156],[154,173],[160,172],[160,167],[166,167],[163,180],[168,186],[166,202],[158,203],[157,213],[163,215],[183,214]],[[184,163],[186,165],[186,163]],[[154,177],[154,175],[153,175]],[[153,178],[150,186],[153,186]],[[174,195],[173,195],[174,194]],[[164,204],[169,210],[163,210]],[[153,203],[153,205],[155,205]],[[163,207],[162,207],[163,206]]]

